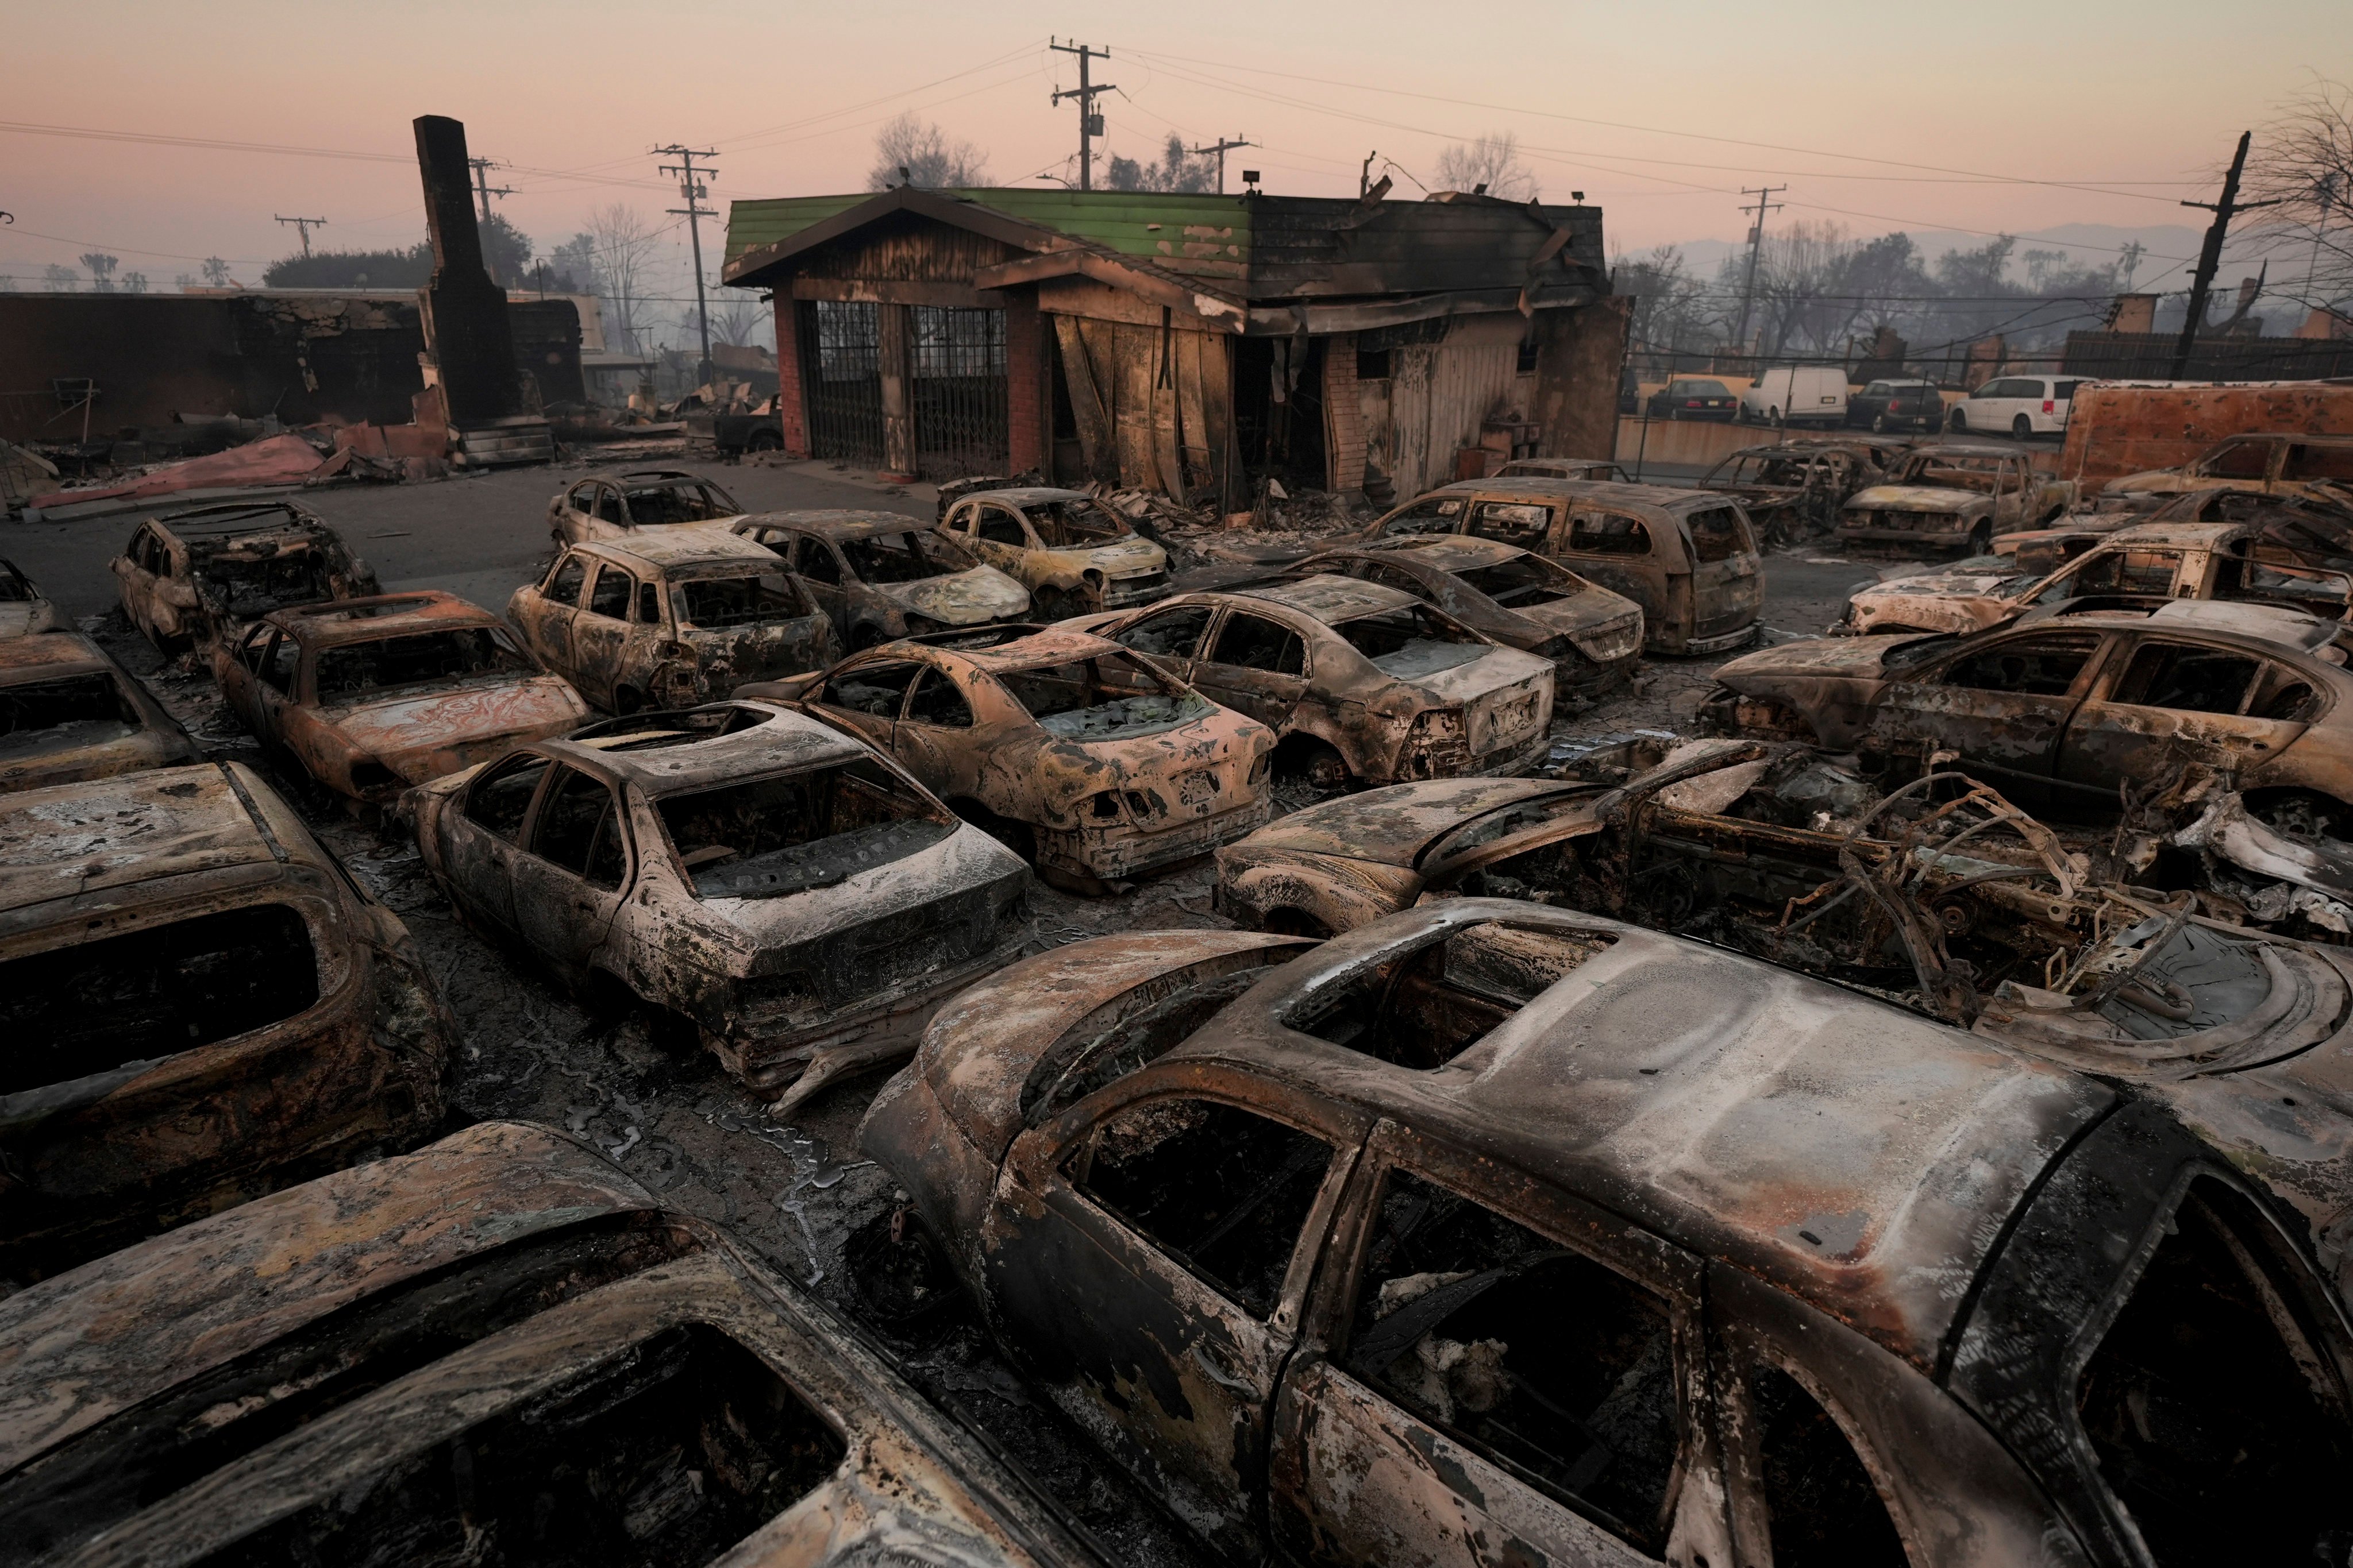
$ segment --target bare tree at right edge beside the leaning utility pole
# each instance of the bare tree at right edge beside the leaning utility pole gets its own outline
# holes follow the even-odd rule
[[[2289,99],[2254,134],[2240,197],[2278,202],[2249,223],[2297,277],[2275,292],[2306,306],[2353,294],[2353,89],[2315,80]]]

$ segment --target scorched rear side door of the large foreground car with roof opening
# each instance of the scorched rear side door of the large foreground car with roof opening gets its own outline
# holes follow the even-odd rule
[[[1421,1420],[1355,1378],[1334,1354],[1353,1319],[1358,1279],[1379,1218],[1384,1185],[1388,1173],[1400,1168],[1480,1204],[1668,1302],[1675,1415],[1682,1441],[1659,1554],[1624,1540],[1532,1476],[1518,1474]],[[1697,1547],[1706,1561],[1734,1561],[1729,1519],[1722,1509],[1722,1441],[1706,1333],[1706,1260],[1572,1192],[1511,1171],[1494,1159],[1466,1154],[1388,1117],[1369,1128],[1332,1215],[1325,1255],[1313,1269],[1313,1291],[1301,1314],[1297,1347],[1275,1392],[1275,1415],[1268,1429],[1268,1535],[1306,1561],[1318,1561],[1313,1544],[1327,1535],[1308,1502],[1315,1483],[1308,1474],[1308,1443],[1318,1429],[1346,1420],[1337,1413],[1344,1403],[1384,1413],[1374,1422],[1374,1441],[1393,1443],[1400,1469],[1417,1479],[1417,1488],[1398,1488],[1405,1493],[1395,1497],[1400,1514],[1424,1512],[1435,1526],[1433,1535],[1459,1535],[1461,1556],[1454,1561],[1431,1559],[1438,1568],[1489,1563],[1494,1556],[1482,1554],[1480,1542],[1522,1540],[1508,1519],[1487,1514],[1497,1483],[1532,1493],[1539,1507],[1562,1519],[1567,1533],[1600,1535],[1605,1547],[1614,1547],[1612,1556],[1628,1566],[1668,1561],[1671,1547],[1678,1544]],[[1362,1486],[1362,1476],[1358,1483]],[[1482,1530],[1480,1519],[1489,1519],[1497,1528]],[[1452,1530],[1447,1530],[1449,1523]],[[1537,1547],[1529,1554],[1532,1561],[1593,1563],[1595,1568],[1607,1561],[1593,1554],[1546,1554],[1551,1544],[1572,1552],[1577,1544],[1591,1547],[1591,1537],[1586,1542],[1529,1544]]]

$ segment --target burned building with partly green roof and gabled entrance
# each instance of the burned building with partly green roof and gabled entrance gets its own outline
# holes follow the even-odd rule
[[[795,456],[1217,510],[1268,477],[1384,496],[1609,456],[1626,329],[1600,209],[1386,197],[736,202],[725,280],[779,303]]]

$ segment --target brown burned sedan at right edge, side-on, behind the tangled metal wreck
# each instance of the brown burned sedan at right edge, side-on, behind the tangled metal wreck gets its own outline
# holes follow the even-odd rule
[[[1791,642],[1722,665],[1701,722],[1901,769],[1955,757],[2019,806],[2059,816],[2113,816],[2120,785],[2191,762],[2266,809],[2339,804],[2353,795],[2353,675],[2334,646],[2228,630],[2249,609],[2261,607]]]

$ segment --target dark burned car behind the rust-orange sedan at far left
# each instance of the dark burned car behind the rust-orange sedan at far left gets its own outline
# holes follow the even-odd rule
[[[273,609],[379,592],[374,567],[292,501],[219,501],[151,517],[108,567],[122,614],[165,654],[233,637]]]

